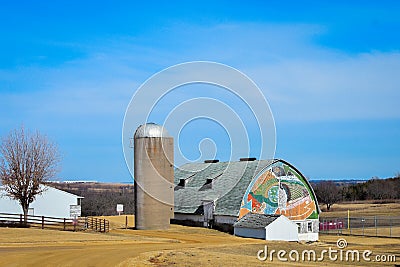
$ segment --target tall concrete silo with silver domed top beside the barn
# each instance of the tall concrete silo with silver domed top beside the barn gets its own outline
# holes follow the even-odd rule
[[[147,123],[134,136],[136,229],[167,229],[174,217],[174,140]]]

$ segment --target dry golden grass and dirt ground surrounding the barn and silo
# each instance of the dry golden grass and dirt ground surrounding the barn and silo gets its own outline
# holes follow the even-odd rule
[[[375,208],[375,204],[365,205]],[[337,205],[336,208],[342,206]],[[361,215],[370,214],[365,207],[363,211],[358,210],[357,205],[348,208]],[[334,212],[340,214],[338,209]],[[381,212],[400,214],[399,206],[393,204],[381,207]],[[338,249],[336,241],[341,237],[348,243],[343,255],[346,250],[359,250],[361,254],[371,250],[371,261],[362,258],[358,262],[345,261],[345,256],[342,261],[332,261],[325,254],[322,262],[294,262],[290,259],[282,262],[275,252],[272,263],[275,266],[395,266],[395,262],[377,262],[376,256],[379,255],[394,255],[397,262],[400,261],[399,238],[320,235],[319,242],[309,244],[266,242],[179,225],[172,225],[166,231],[125,229],[125,216],[106,218],[111,225],[107,234],[0,228],[0,266],[268,266],[271,265],[269,259],[257,259],[257,252],[263,250],[265,245],[269,253],[272,250],[285,250],[287,253],[296,250],[301,255],[305,250],[313,250],[318,258],[323,250]],[[128,227],[133,226],[133,219],[133,216],[128,217]]]

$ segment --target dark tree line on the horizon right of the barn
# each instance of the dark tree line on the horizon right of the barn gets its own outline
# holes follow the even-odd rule
[[[378,200],[387,201],[400,199],[400,174],[394,178],[372,179],[354,184],[335,182],[331,180],[312,182],[319,203],[331,206],[342,201]]]

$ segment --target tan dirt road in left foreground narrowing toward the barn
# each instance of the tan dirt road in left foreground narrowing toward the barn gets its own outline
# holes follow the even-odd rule
[[[134,259],[145,252],[262,243],[207,229],[191,229],[172,226],[168,231],[128,229],[98,234],[1,228],[0,266],[140,266]]]

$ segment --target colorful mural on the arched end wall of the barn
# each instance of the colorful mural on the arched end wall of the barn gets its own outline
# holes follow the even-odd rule
[[[318,219],[317,202],[309,184],[294,168],[281,161],[250,183],[239,219],[249,212],[282,214],[291,220]]]

